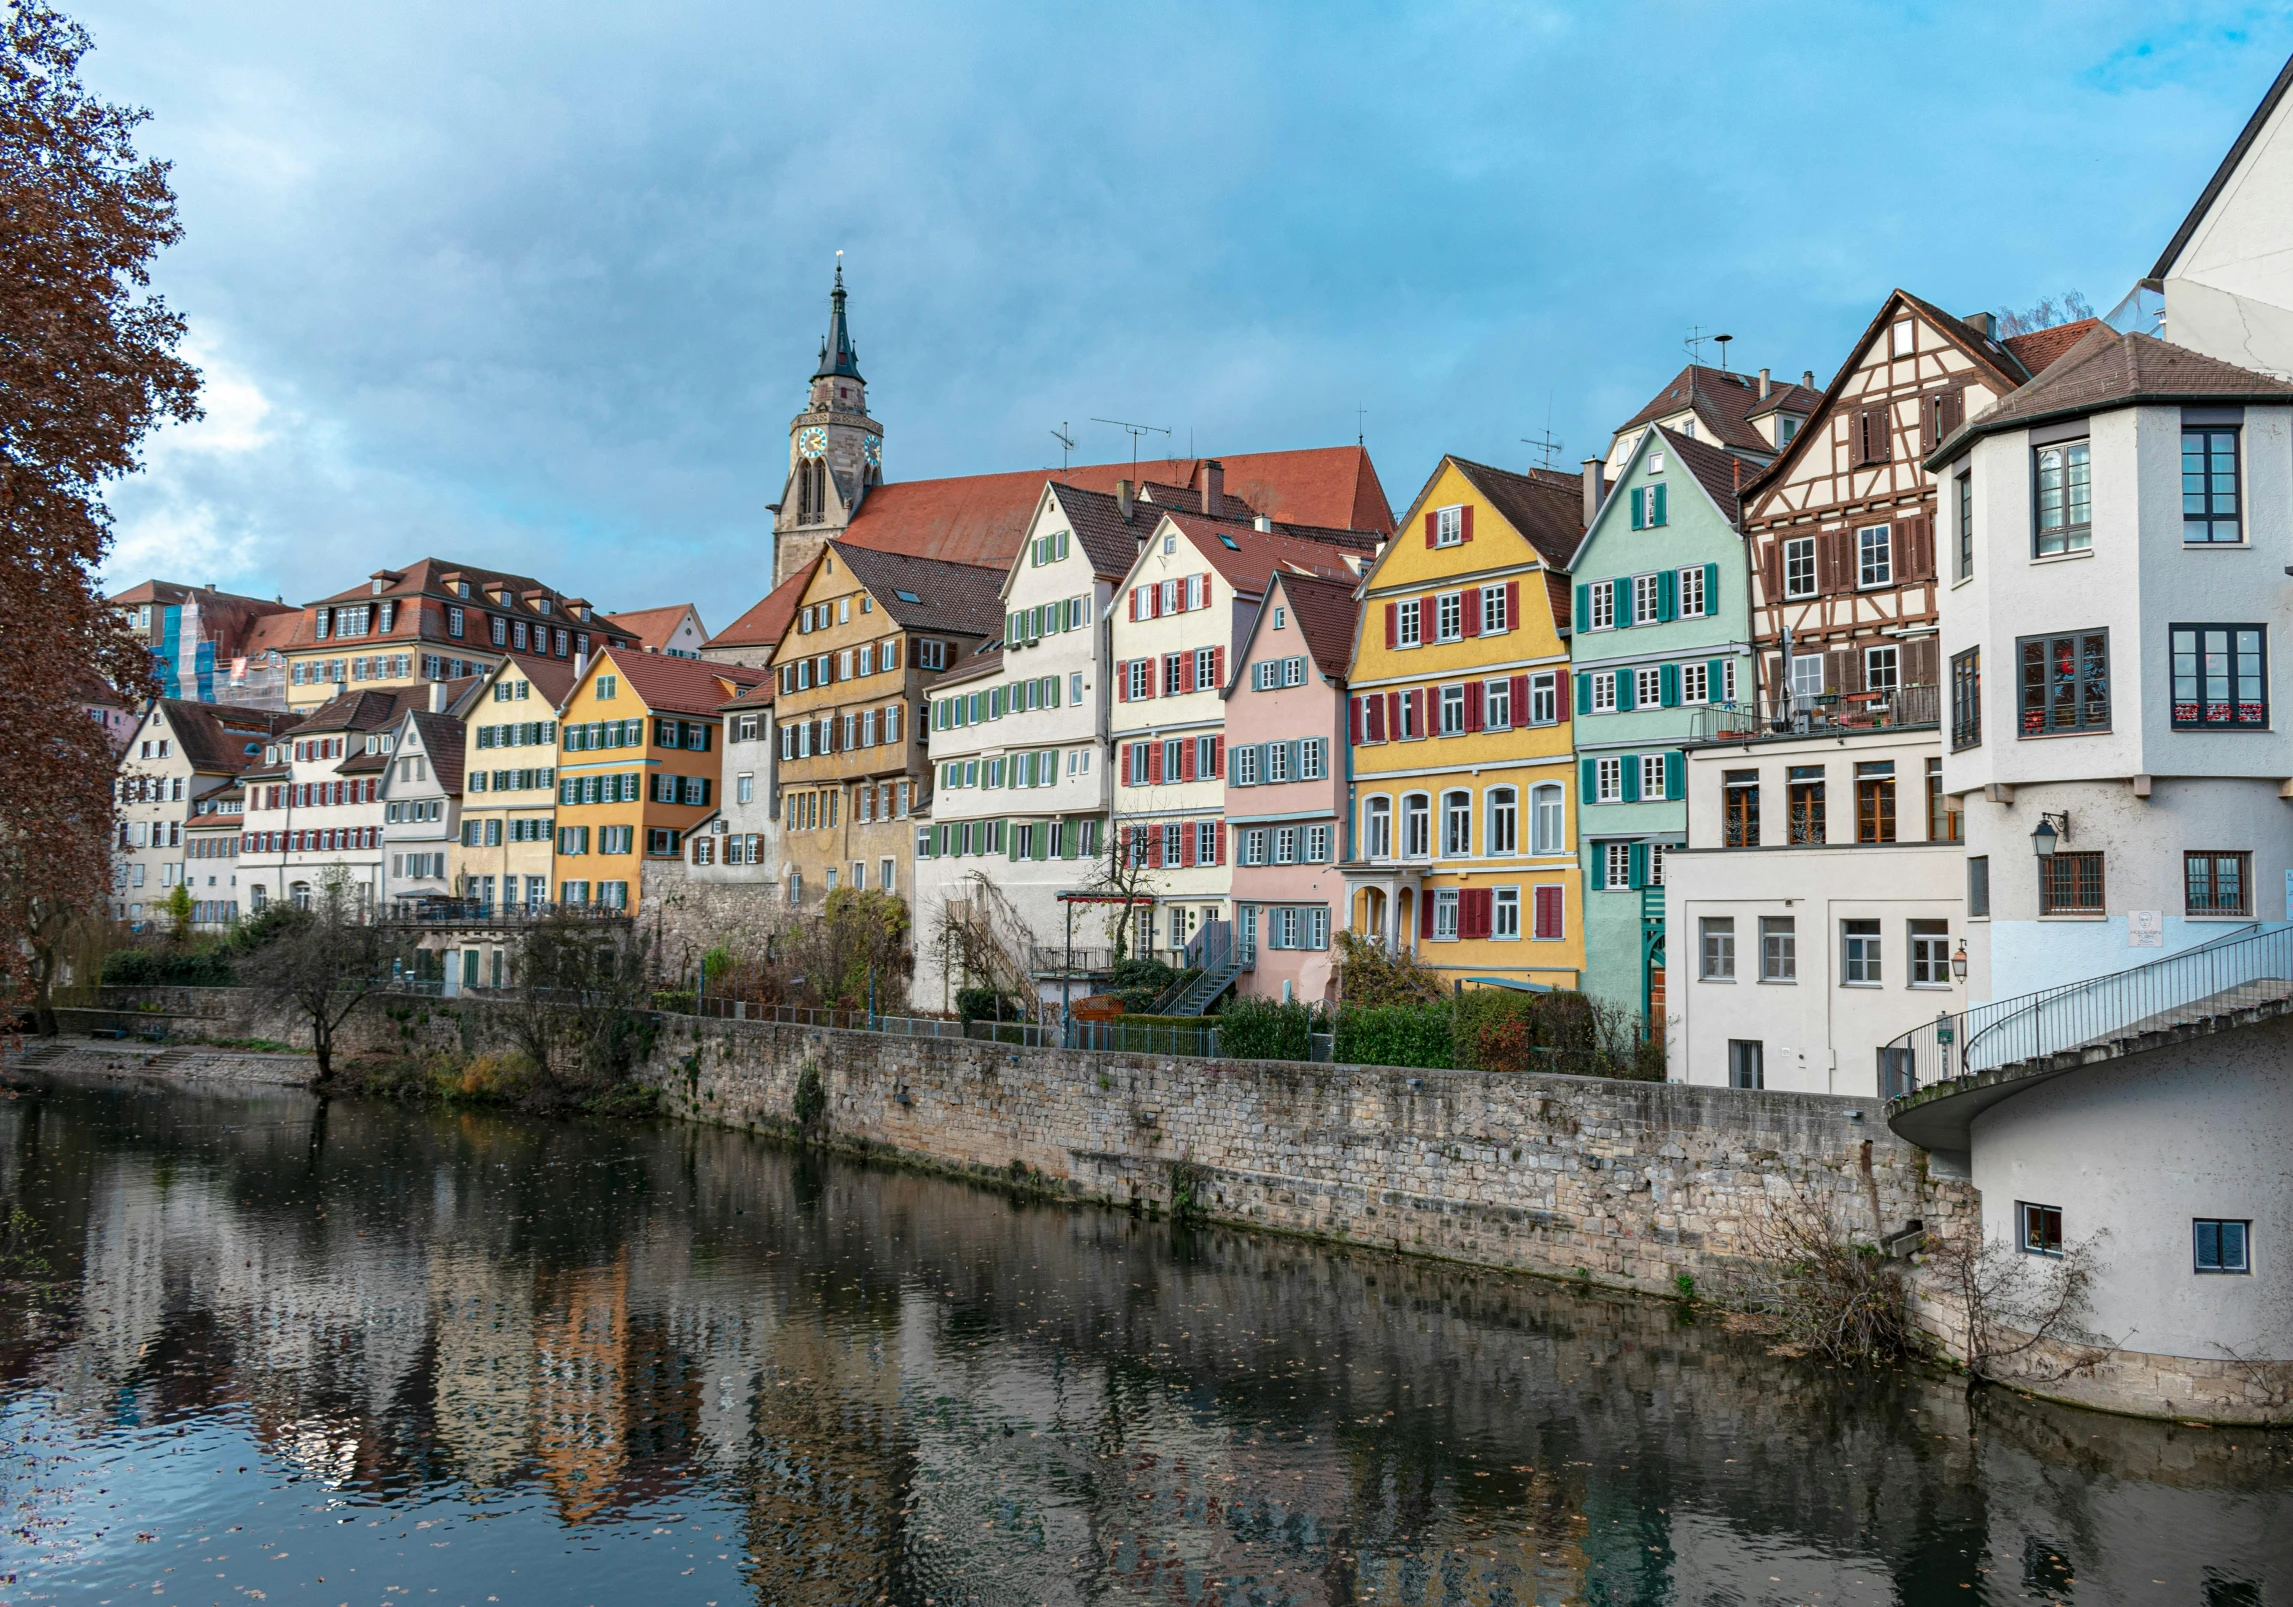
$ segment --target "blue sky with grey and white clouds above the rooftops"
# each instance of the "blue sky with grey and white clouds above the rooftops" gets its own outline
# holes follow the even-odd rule
[[[2149,271],[2282,7],[87,0],[151,108],[206,422],[108,578],[321,596],[422,555],[605,607],[770,573],[844,250],[894,479],[1353,440],[1596,452],[1727,330],[1818,383],[1903,284]]]

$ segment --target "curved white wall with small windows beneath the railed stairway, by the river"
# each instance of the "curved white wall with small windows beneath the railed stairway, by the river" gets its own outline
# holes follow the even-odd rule
[[[1983,1231],[2061,1206],[2098,1249],[2091,1325],[2126,1350],[2293,1359],[2293,1022],[2194,1038],[2034,1087],[1974,1119]],[[2192,1220],[2245,1217],[2252,1272],[2192,1270]]]

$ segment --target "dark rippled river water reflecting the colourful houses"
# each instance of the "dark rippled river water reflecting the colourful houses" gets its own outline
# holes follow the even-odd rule
[[[2293,1600],[2293,1435],[743,1135],[60,1082],[0,1210],[7,1605]]]

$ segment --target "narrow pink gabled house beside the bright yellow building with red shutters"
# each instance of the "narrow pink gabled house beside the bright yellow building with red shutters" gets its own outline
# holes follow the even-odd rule
[[[1346,912],[1346,665],[1353,585],[1275,571],[1227,681],[1227,841],[1238,988],[1266,1000],[1332,997]]]

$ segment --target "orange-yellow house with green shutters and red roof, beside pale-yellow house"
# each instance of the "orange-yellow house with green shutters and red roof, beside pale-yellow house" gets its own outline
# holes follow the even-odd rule
[[[637,910],[644,862],[681,862],[686,832],[720,802],[722,704],[764,681],[764,669],[635,649],[587,665],[559,711],[559,903]]]

